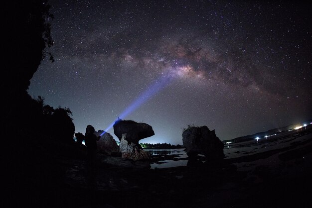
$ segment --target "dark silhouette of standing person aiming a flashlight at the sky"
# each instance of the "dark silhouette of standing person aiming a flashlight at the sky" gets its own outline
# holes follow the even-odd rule
[[[88,125],[85,133],[85,144],[87,146],[87,161],[89,165],[93,165],[95,162],[95,155],[97,149],[97,141],[101,136],[96,136],[94,134],[95,129],[92,125]]]

